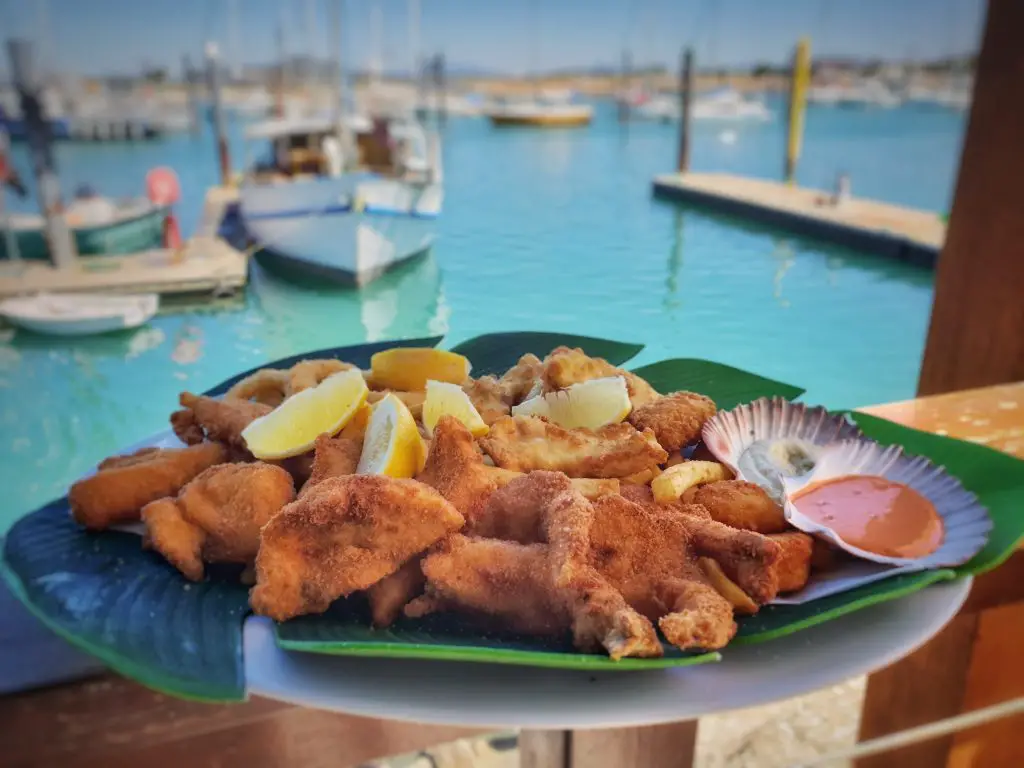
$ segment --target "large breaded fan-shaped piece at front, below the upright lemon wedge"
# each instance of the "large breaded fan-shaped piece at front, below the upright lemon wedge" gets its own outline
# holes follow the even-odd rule
[[[464,522],[422,482],[329,477],[263,527],[250,604],[279,622],[323,613],[339,597],[394,573]]]

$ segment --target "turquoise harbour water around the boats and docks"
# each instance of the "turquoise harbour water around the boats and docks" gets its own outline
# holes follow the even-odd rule
[[[776,115],[780,113],[777,110]],[[799,180],[947,210],[961,116],[901,109],[808,115]],[[721,140],[734,130],[734,143]],[[236,165],[241,127],[232,126]],[[777,177],[783,124],[700,124],[695,170]],[[182,309],[135,332],[78,341],[5,332],[0,343],[0,531],[59,496],[103,457],[165,429],[183,389],[266,360],[366,340],[498,330],[562,330],[642,341],[642,364],[707,357],[852,407],[913,393],[932,274],[850,250],[652,199],[671,170],[673,126],[620,126],[607,104],[584,130],[444,131],[445,207],[433,252],[361,292],[297,285],[254,264],[245,296]],[[70,145],[68,189],[137,194],[169,165],[185,233],[215,182],[211,137]],[[23,150],[15,165],[29,175]],[[22,204],[26,205],[26,204]]]

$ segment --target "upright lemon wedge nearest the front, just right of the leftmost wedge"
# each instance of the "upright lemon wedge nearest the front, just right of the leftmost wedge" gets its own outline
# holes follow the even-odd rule
[[[374,404],[355,471],[364,475],[412,477],[423,464],[423,438],[409,407],[393,394]]]

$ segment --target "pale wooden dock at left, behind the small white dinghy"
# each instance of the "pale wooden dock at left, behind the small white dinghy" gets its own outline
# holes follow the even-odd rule
[[[211,295],[234,291],[248,281],[248,257],[216,232],[225,208],[237,197],[233,189],[211,188],[197,233],[180,249],[86,256],[69,269],[42,261],[0,262],[0,298],[41,291]]]

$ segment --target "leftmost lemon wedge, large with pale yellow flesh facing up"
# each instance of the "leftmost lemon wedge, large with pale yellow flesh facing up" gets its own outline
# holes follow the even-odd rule
[[[304,389],[242,431],[257,459],[287,459],[304,454],[316,437],[335,434],[362,408],[370,393],[359,371],[342,371]]]

